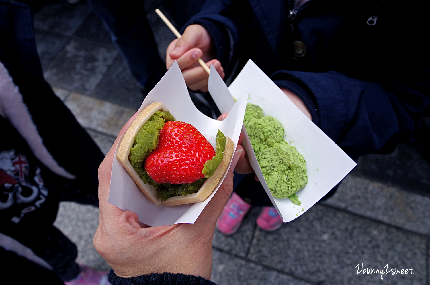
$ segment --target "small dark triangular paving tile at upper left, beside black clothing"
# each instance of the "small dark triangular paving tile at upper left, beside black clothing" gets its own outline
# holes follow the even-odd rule
[[[34,32],[34,35],[36,37],[36,48],[40,63],[42,64],[42,69],[46,70],[55,55],[57,55],[65,43],[69,41],[69,38],[38,30]]]

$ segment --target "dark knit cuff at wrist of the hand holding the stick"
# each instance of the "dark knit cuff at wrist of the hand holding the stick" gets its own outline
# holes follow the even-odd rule
[[[205,27],[215,46],[216,59],[221,62],[222,66],[227,66],[230,60],[230,36],[228,35],[227,28],[218,22],[199,18],[187,23],[187,25],[182,28],[181,33],[184,33],[185,28],[192,24],[199,24]]]

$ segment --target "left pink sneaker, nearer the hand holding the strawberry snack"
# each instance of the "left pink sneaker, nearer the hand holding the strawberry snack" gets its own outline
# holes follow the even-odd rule
[[[234,234],[250,207],[250,204],[243,201],[236,192],[233,192],[216,222],[216,228],[225,235]]]

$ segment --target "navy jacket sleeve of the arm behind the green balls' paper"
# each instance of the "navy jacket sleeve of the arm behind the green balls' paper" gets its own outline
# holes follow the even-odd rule
[[[313,122],[352,157],[390,153],[397,143],[412,141],[421,117],[429,115],[427,96],[411,91],[405,100],[339,72],[279,71],[272,79],[298,95]]]

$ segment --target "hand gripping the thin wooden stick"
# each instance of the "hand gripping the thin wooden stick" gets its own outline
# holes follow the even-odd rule
[[[180,39],[175,39],[166,50],[166,67],[172,66],[175,60],[184,75],[185,82],[191,90],[208,91],[209,75],[197,62],[201,58],[207,66],[213,66],[221,78],[224,68],[219,60],[214,59],[212,38],[201,25],[188,26]]]

